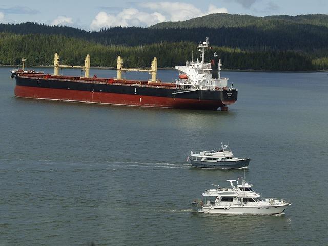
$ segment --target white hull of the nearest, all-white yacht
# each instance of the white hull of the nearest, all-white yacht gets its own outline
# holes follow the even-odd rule
[[[198,210],[200,213],[209,214],[280,214],[290,203],[276,206],[210,206],[202,207]]]

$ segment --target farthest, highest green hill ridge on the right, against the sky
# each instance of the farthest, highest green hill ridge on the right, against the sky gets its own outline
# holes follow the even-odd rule
[[[328,15],[272,15],[266,17],[257,17],[251,15],[216,13],[180,22],[161,22],[149,28],[221,28],[248,26],[265,28],[268,24],[270,26],[279,24],[305,24],[328,27]]]

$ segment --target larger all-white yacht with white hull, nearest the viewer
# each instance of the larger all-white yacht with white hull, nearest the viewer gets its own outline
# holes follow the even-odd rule
[[[238,178],[239,179],[239,178]],[[280,214],[291,203],[281,198],[262,198],[241,178],[227,180],[230,187],[206,190],[198,212],[215,214]],[[236,186],[234,185],[236,182]],[[195,204],[195,202],[193,203]]]

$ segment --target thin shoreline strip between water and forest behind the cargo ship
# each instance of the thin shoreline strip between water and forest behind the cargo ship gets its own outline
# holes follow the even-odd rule
[[[0,67],[17,67],[21,65],[7,65],[7,64],[0,64]],[[53,68],[52,65],[35,65],[35,66],[25,66],[25,67],[33,67],[33,68]],[[75,69],[75,68],[65,68],[65,69]],[[114,67],[97,67],[91,66],[90,69],[101,69],[101,70],[116,70]],[[145,68],[139,68],[145,69]],[[146,68],[147,69],[147,68]],[[150,69],[150,68],[148,68]],[[157,68],[157,70],[176,70],[175,68],[165,67],[165,68]],[[222,69],[221,71],[227,72],[265,72],[265,73],[315,73],[315,72],[328,72],[328,70],[296,70],[296,71],[289,71],[289,70],[255,70],[255,69]]]

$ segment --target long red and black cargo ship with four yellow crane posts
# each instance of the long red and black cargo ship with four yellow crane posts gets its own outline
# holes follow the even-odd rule
[[[85,66],[61,65],[59,55],[54,57],[54,74],[44,74],[34,70],[12,70],[15,78],[15,96],[23,98],[74,101],[83,103],[126,105],[139,107],[205,109],[223,111],[237,100],[236,88],[228,87],[228,78],[220,76],[221,60],[214,54],[209,63],[204,62],[204,54],[209,48],[209,39],[200,42],[197,50],[200,58],[187,61],[185,66],[176,66],[179,72],[172,83],[163,83],[157,76],[157,59],[150,69],[128,69],[123,67],[123,59],[117,58],[117,77],[90,77],[90,55],[85,58]],[[85,76],[59,75],[60,68],[80,68]],[[147,81],[122,78],[125,71],[146,71],[151,74]]]

